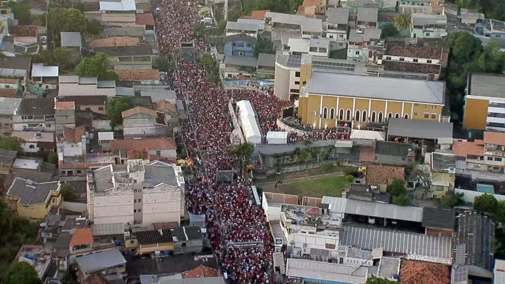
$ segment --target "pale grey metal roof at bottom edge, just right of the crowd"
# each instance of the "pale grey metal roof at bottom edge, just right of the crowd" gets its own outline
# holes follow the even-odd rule
[[[288,258],[286,275],[342,283],[364,283],[367,267],[355,267],[306,259]]]

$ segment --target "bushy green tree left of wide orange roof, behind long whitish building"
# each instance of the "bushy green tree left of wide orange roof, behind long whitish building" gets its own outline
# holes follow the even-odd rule
[[[110,62],[105,53],[84,57],[75,67],[75,74],[81,77],[98,77],[99,80],[118,80],[118,75],[108,71]]]

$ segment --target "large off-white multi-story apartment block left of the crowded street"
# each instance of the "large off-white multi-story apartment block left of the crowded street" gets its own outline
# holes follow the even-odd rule
[[[87,205],[94,224],[177,222],[185,214],[181,167],[128,160],[88,173]]]

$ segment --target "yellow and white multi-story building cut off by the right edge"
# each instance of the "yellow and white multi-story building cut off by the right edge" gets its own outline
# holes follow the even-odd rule
[[[505,132],[505,76],[468,74],[463,127]]]

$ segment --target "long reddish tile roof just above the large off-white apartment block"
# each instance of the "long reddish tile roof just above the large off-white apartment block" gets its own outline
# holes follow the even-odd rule
[[[161,138],[143,138],[143,139],[124,139],[112,140],[112,152],[120,150],[136,150],[136,149],[149,149],[149,150],[175,150],[176,144],[173,142],[172,137]]]

